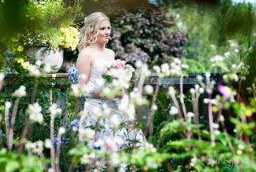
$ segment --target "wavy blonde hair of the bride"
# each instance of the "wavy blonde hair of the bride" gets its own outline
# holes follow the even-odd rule
[[[103,20],[110,22],[110,18],[101,12],[95,12],[85,18],[85,26],[80,29],[81,40],[78,44],[79,51],[97,41],[98,30]]]

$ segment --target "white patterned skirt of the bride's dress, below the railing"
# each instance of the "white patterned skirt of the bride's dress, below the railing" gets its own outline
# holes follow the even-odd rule
[[[79,104],[80,107],[85,105],[84,108],[86,108],[83,126],[95,131],[95,137],[90,144],[118,138],[116,150],[132,145],[141,146],[145,139],[142,130],[137,130],[134,127],[136,122],[129,121],[126,115],[118,109],[119,98],[82,98]]]

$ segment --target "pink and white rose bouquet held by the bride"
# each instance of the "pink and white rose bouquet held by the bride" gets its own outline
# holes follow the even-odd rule
[[[118,59],[110,66],[106,66],[106,69],[102,73],[102,78],[109,83],[116,79],[126,79],[126,81],[130,82],[135,78],[135,70],[133,66],[126,64],[126,61]]]

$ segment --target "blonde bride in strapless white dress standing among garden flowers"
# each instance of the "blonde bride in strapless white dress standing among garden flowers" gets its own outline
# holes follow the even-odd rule
[[[116,127],[113,118],[124,122],[124,114],[118,110],[119,98],[101,98],[101,86],[98,84],[102,79],[103,70],[114,62],[114,51],[107,49],[106,43],[110,40],[110,19],[105,14],[96,12],[85,18],[81,30],[81,41],[78,45],[79,54],[77,60],[78,84],[80,87],[90,87],[90,98],[86,98],[85,127],[95,129],[95,136],[90,144],[95,147],[98,142],[109,142],[110,138],[122,138],[122,145],[114,150],[120,150],[131,138],[142,142],[142,131]],[[110,110],[109,118],[105,118],[103,111]],[[98,114],[96,113],[98,112]],[[96,113],[96,114],[95,114]],[[95,127],[97,125],[97,127]],[[130,130],[130,131],[129,131]],[[119,142],[120,143],[120,142]]]

